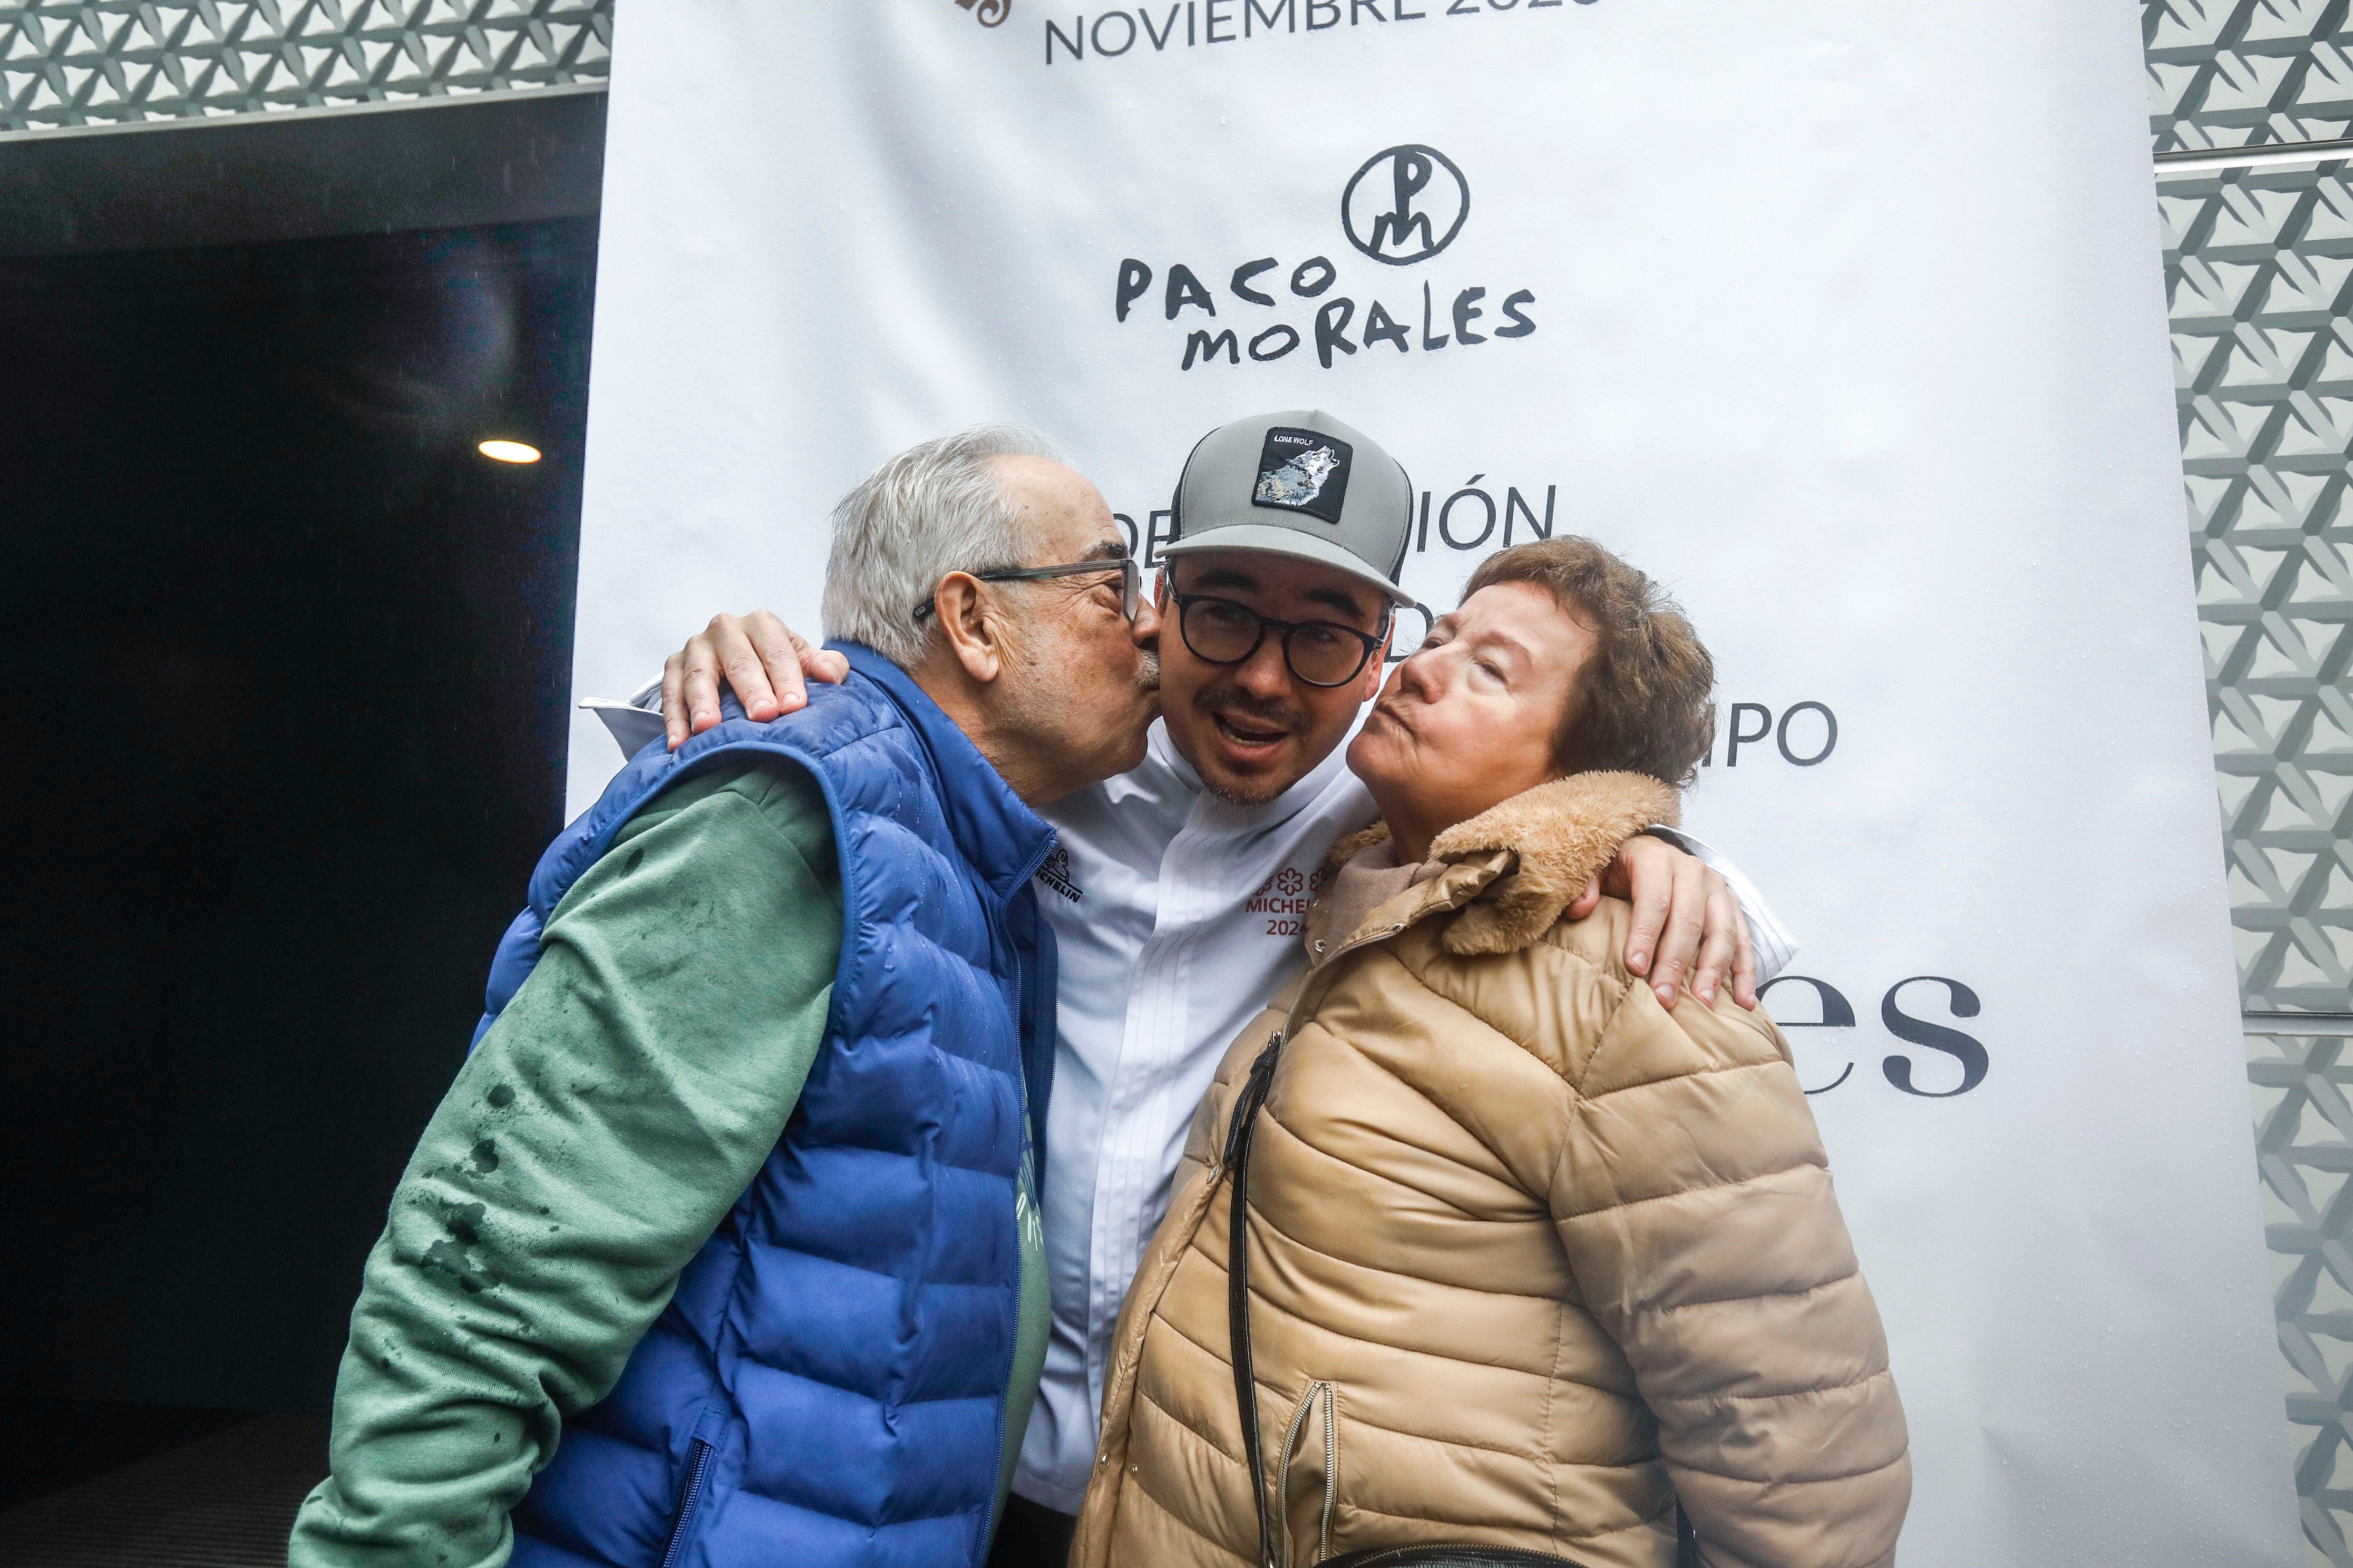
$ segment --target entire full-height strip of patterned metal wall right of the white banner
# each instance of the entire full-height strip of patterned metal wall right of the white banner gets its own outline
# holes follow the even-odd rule
[[[2353,134],[2348,0],[2146,0],[2158,150]],[[2353,181],[2158,181],[2207,712],[2249,1013],[2353,1013]],[[2252,1023],[2252,1020],[2249,1020]],[[2294,1027],[2264,1020],[2266,1027]],[[2353,1568],[2353,1037],[2249,1034],[2308,1561]]]

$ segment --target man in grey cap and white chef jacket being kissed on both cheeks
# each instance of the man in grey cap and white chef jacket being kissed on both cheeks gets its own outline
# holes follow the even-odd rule
[[[1038,872],[1061,950],[1042,1194],[1052,1338],[991,1568],[1061,1568],[1111,1331],[1193,1107],[1235,1030],[1304,961],[1325,851],[1377,816],[1344,743],[1381,686],[1391,614],[1412,604],[1395,583],[1405,470],[1322,411],[1264,414],[1202,437],[1174,510],[1155,590],[1162,719],[1144,764],[1042,806],[1061,837]],[[845,670],[765,611],[718,616],[668,661],[671,745],[718,722],[720,679],[772,719],[805,701],[805,679]],[[1602,889],[1635,903],[1626,959],[1666,1001],[1685,983],[1713,1001],[1729,983],[1755,1006],[1793,954],[1739,870],[1666,827],[1633,839],[1588,898]]]

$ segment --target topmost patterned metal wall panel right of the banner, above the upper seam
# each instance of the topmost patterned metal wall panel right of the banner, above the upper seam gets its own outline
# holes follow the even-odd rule
[[[2348,0],[2148,0],[2158,150],[2353,134]]]

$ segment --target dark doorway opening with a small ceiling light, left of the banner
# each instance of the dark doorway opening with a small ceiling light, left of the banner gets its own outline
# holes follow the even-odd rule
[[[593,273],[595,219],[0,261],[19,1413],[325,1410],[562,811]]]

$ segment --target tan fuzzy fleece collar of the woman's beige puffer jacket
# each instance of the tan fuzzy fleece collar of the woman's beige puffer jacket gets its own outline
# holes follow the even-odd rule
[[[1381,926],[1402,931],[1452,910],[1461,914],[1445,931],[1447,952],[1518,952],[1551,931],[1626,839],[1678,820],[1680,795],[1647,773],[1555,778],[1440,832],[1431,860],[1447,870],[1386,900],[1353,931],[1332,933],[1322,905],[1311,910],[1308,952],[1322,961]],[[1386,842],[1388,823],[1374,823],[1334,844],[1325,865],[1339,870]]]

